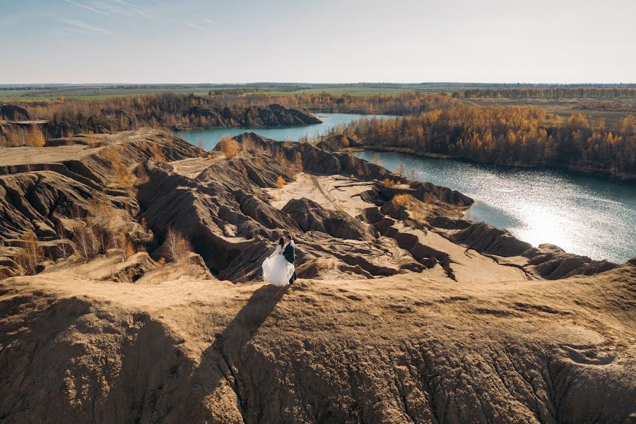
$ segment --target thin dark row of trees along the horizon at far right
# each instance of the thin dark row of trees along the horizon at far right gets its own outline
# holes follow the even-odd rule
[[[636,98],[636,88],[473,88],[454,98]]]

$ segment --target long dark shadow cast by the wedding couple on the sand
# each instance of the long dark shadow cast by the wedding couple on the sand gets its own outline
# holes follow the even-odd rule
[[[192,376],[191,385],[194,391],[191,399],[199,401],[199,405],[192,407],[202,408],[201,418],[213,420],[209,408],[223,394],[227,396],[228,388],[235,392],[241,413],[247,409],[245,390],[239,375],[241,358],[245,358],[245,346],[287,292],[288,287],[273,285],[264,285],[255,290],[223,333],[218,334],[201,355],[201,363]]]

